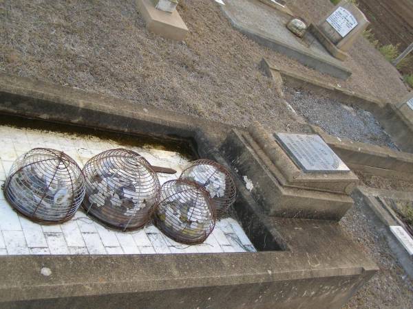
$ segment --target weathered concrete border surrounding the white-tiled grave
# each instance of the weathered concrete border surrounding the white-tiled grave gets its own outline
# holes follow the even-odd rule
[[[0,113],[137,137],[186,139],[200,157],[231,164],[218,146],[233,127],[28,78],[0,74]],[[266,216],[242,175],[234,177],[242,226],[257,249],[270,251],[3,256],[2,308],[220,308],[222,299],[233,308],[275,303],[277,308],[341,308],[377,271],[337,222]]]

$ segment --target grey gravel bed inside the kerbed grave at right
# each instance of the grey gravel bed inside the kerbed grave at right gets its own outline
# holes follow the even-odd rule
[[[286,100],[310,124],[321,127],[330,135],[397,149],[368,111],[296,89],[286,90]]]

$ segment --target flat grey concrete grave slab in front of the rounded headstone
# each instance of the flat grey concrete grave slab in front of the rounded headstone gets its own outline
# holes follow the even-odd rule
[[[290,20],[288,14],[273,10],[259,0],[226,0],[225,3],[222,10],[233,27],[257,43],[336,78],[346,80],[351,76],[351,71],[310,34],[306,34],[304,40],[292,34],[286,27]]]

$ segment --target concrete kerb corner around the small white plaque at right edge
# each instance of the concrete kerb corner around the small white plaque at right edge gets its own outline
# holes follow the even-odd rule
[[[359,186],[352,193],[354,203],[358,203],[366,210],[369,219],[372,220],[374,226],[381,235],[385,236],[390,249],[393,251],[398,262],[401,264],[407,275],[413,278],[413,256],[407,253],[403,244],[390,231],[390,226],[401,225],[403,222],[397,218],[396,214],[390,207],[380,203],[377,199],[379,196],[413,201],[413,196],[406,192],[390,192],[388,190],[377,190],[369,187]]]

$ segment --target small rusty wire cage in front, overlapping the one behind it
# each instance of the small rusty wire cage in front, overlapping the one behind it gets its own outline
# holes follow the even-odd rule
[[[177,179],[162,185],[154,220],[169,238],[183,244],[200,244],[212,233],[216,212],[204,187]]]

